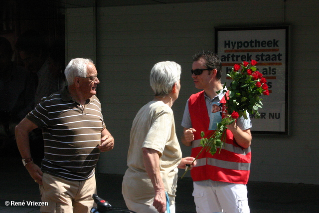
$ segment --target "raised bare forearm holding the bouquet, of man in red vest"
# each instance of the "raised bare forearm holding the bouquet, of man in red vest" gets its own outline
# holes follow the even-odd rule
[[[237,126],[236,122],[233,122],[232,124],[228,125],[227,129],[229,129],[233,133],[234,138],[239,146],[241,146],[244,149],[250,147],[252,139],[250,129],[241,130]]]

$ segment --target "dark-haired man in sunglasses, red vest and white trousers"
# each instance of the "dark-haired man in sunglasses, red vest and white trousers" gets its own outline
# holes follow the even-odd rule
[[[197,89],[202,91],[189,97],[186,103],[182,126],[182,143],[192,146],[191,157],[202,149],[200,133],[205,137],[209,129],[210,113],[214,103],[225,103],[225,93],[220,82],[221,61],[211,51],[201,51],[193,56],[192,78]],[[251,121],[243,117],[227,126],[226,145],[213,156],[202,152],[197,165],[191,170],[194,181],[194,201],[197,213],[249,213],[246,184],[251,162]]]

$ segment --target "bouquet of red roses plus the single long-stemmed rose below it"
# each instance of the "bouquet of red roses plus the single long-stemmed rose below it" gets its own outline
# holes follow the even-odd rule
[[[227,74],[232,79],[230,86],[227,87],[228,91],[226,90],[225,83],[223,89],[217,93],[228,92],[225,96],[226,108],[227,112],[231,112],[231,114],[224,116],[221,122],[217,124],[216,130],[207,138],[204,137],[205,133],[201,132],[200,144],[203,148],[197,157],[203,150],[210,152],[212,155],[216,153],[218,147],[221,150],[226,139],[227,125],[232,124],[241,116],[248,119],[246,112],[255,114],[257,118],[260,116],[258,109],[262,108],[263,104],[261,101],[263,99],[259,96],[269,95],[269,90],[267,80],[263,77],[262,73],[257,71],[256,64],[257,61],[255,60],[252,60],[250,63],[244,61],[241,65],[235,64],[232,71]],[[188,168],[185,173],[187,170]]]

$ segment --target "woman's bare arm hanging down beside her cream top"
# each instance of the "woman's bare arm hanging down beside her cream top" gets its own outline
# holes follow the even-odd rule
[[[155,197],[153,206],[159,213],[166,210],[166,196],[163,180],[160,176],[160,156],[159,152],[154,149],[142,148],[143,161],[149,178],[152,181]]]

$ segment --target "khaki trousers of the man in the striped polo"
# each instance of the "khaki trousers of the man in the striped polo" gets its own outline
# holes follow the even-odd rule
[[[40,186],[42,213],[90,213],[96,194],[95,175],[85,181],[69,181],[47,173],[42,176]]]

